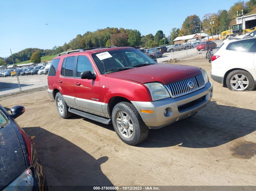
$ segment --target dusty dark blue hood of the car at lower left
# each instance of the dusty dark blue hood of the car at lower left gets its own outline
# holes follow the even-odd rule
[[[0,129],[0,145],[0,190],[2,190],[26,170],[26,164],[18,135],[12,127],[6,126]]]

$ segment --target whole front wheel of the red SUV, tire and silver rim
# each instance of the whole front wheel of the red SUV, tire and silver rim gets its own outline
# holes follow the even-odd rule
[[[117,103],[112,111],[112,123],[118,137],[128,145],[137,145],[148,136],[149,129],[132,103]]]

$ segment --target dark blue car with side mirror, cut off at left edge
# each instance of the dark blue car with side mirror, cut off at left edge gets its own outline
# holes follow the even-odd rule
[[[35,143],[15,122],[25,108],[14,106],[9,114],[0,105],[0,190],[48,190]]]

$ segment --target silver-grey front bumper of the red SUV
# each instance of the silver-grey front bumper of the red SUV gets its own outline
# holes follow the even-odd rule
[[[150,129],[159,129],[197,113],[211,101],[212,91],[213,87],[209,81],[204,88],[175,99],[169,97],[152,102],[132,101],[131,103]],[[168,109],[166,116],[165,109]],[[154,113],[141,113],[140,110],[153,110]]]

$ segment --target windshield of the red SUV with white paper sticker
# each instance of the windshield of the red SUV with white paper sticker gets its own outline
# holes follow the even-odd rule
[[[156,64],[153,59],[134,48],[94,53],[91,56],[101,74],[108,74],[143,65]]]

